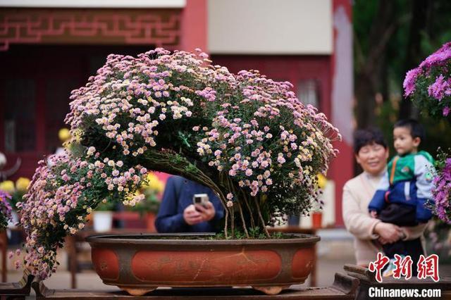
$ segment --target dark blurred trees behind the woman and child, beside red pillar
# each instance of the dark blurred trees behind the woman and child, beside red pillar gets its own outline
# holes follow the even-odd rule
[[[381,127],[393,150],[393,123],[416,118],[426,127],[424,149],[451,146],[451,126],[419,112],[402,96],[408,70],[451,41],[451,1],[354,0],[354,95],[357,127]]]

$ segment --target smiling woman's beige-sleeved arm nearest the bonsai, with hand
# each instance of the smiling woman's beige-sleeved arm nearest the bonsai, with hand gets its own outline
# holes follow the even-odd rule
[[[366,211],[362,211],[359,200],[354,196],[348,185],[343,187],[342,213],[346,229],[358,239],[377,239],[374,227],[381,220],[371,218]]]

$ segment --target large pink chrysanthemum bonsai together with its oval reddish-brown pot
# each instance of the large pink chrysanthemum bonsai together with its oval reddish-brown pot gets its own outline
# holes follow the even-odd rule
[[[267,226],[316,203],[316,175],[338,152],[338,130],[302,104],[290,82],[235,75],[207,57],[164,49],[110,55],[72,92],[66,124],[85,151],[40,162],[19,204],[32,273],[44,279],[56,269],[56,248],[101,202],[142,201],[136,192],[155,170],[213,189],[223,232],[89,237],[106,284],[131,294],[223,285],[277,294],[307,278],[319,237],[270,235]]]

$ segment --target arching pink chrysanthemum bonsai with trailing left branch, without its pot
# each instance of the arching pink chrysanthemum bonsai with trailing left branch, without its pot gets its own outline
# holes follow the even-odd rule
[[[110,55],[72,92],[66,124],[85,152],[39,163],[19,204],[27,268],[47,277],[64,237],[101,201],[134,206],[144,198],[135,192],[149,170],[211,187],[225,210],[226,239],[269,237],[266,225],[277,217],[309,211],[316,175],[337,154],[338,130],[289,82],[210,63],[200,51]]]

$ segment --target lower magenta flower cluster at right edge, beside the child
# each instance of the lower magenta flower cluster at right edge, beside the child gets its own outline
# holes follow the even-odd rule
[[[433,179],[433,196],[435,200],[435,213],[438,218],[451,224],[451,158],[445,159],[445,166],[439,170]]]

